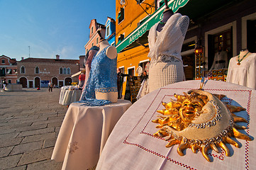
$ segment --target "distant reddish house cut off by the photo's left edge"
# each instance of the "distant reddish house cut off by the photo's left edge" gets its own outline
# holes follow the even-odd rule
[[[6,79],[8,84],[17,83],[17,62],[16,59],[11,59],[5,55],[0,56],[0,77],[1,82]],[[1,84],[2,85],[2,84]]]

